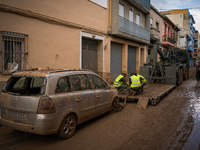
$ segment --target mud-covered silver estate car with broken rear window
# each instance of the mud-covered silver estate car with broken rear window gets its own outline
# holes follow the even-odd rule
[[[17,72],[0,94],[1,123],[69,138],[78,124],[110,111],[116,98],[117,91],[91,71]]]

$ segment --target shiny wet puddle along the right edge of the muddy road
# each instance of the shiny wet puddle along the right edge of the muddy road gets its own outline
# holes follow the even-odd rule
[[[176,88],[176,100],[185,100],[182,108],[183,120],[168,140],[168,149],[200,150],[200,83],[195,79]]]

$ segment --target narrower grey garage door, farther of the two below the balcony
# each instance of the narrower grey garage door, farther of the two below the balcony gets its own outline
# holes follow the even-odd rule
[[[128,77],[131,72],[136,72],[136,48],[128,46]]]

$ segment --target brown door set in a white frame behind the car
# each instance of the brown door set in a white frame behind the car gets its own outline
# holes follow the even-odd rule
[[[97,41],[82,39],[82,68],[97,73]]]

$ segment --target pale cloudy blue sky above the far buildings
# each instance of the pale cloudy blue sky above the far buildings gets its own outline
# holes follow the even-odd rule
[[[151,0],[151,4],[159,11],[189,9],[195,20],[193,26],[200,32],[200,0]]]

